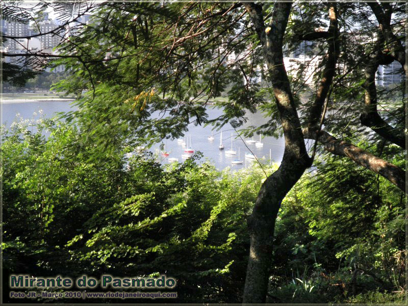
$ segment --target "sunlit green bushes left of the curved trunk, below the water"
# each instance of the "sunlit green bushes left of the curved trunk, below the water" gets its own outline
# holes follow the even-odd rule
[[[180,301],[240,301],[261,169],[95,150],[63,122],[4,131],[5,273],[167,274]]]

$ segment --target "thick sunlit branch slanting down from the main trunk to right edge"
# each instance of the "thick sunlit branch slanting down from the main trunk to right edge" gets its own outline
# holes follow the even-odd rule
[[[309,129],[303,129],[303,134],[305,138],[314,140],[317,138],[317,133]],[[406,192],[405,172],[401,168],[372,155],[370,152],[367,152],[358,146],[339,140],[325,131],[320,131],[318,135],[319,137],[317,141],[323,144],[326,151],[331,152],[334,155],[345,156],[352,159],[356,164],[378,173],[397,186],[401,191]]]

